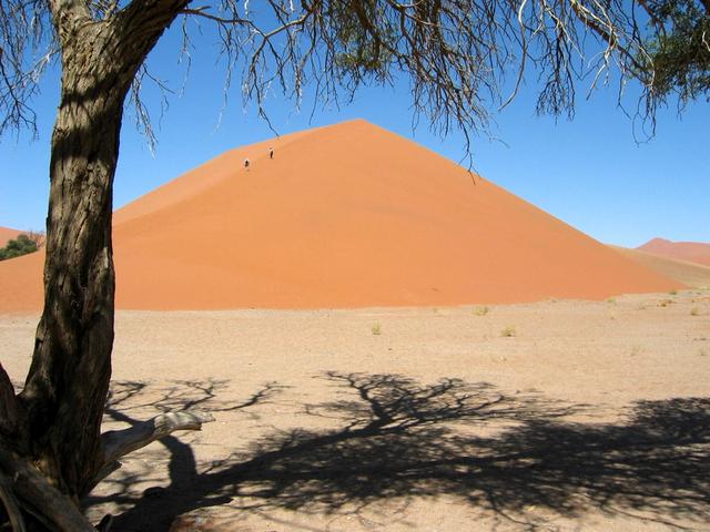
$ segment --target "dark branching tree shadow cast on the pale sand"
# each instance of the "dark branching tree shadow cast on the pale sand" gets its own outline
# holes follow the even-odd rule
[[[129,504],[115,530],[168,530],[174,516],[214,505],[358,513],[379,501],[440,495],[489,510],[520,530],[545,524],[526,512],[529,507],[572,519],[592,509],[666,524],[710,519],[710,399],[640,401],[627,422],[599,424],[564,419],[579,406],[505,395],[485,383],[422,386],[396,375],[337,372],[323,378],[344,397],[304,408],[339,429],[274,431],[202,472],[187,444],[166,438],[168,488],[141,497],[129,489],[135,479],[108,480],[118,490],[108,499]],[[156,405],[246,409],[280,391],[272,383],[244,403],[219,406],[220,386],[226,383],[185,382]],[[123,387],[121,397],[141,392],[135,383]],[[109,416],[131,422],[115,407]],[[88,504],[98,502],[90,498]]]

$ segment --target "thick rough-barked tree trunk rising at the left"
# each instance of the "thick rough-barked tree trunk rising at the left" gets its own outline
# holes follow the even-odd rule
[[[138,69],[189,0],[134,0],[101,21],[87,2],[49,3],[62,50],[62,88],[51,146],[44,309],[17,400],[22,416],[10,416],[17,427],[6,420],[0,448],[32,462],[78,502],[104,467],[112,188],[123,103]]]

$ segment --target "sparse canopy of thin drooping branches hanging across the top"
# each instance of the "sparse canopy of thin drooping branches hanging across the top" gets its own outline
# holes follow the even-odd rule
[[[0,132],[36,124],[32,96],[61,52],[52,9],[72,2],[7,0],[0,7]],[[226,59],[225,86],[240,80],[245,96],[268,119],[266,92],[278,86],[296,101],[304,86],[318,102],[352,98],[364,84],[410,80],[413,110],[446,133],[486,130],[525,78],[537,79],[539,113],[572,114],[585,89],[615,75],[620,92],[640,83],[639,114],[653,121],[674,95],[681,103],[709,95],[710,25],[707,0],[82,0],[89,23],[141,9],[171,9],[183,45],[194,50],[194,21],[217,27]],[[615,73],[616,71],[616,73]],[[131,102],[153,139],[141,88],[154,82],[142,63]]]

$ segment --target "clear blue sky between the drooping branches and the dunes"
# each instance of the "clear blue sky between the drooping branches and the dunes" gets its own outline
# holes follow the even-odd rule
[[[209,33],[209,32],[207,32]],[[204,43],[202,42],[204,41]],[[234,83],[230,102],[217,126],[223,103],[223,70],[212,53],[209,35],[199,38],[184,94],[170,99],[160,119],[160,105],[151,105],[159,145],[153,156],[145,139],[126,113],[115,178],[114,206],[243,144],[274,136],[244,106]],[[204,44],[204,48],[203,48]],[[178,35],[171,30],[151,55],[161,78],[180,89]],[[211,50],[205,52],[205,48]],[[49,140],[59,94],[58,73],[50,72],[34,101],[39,140],[29,134],[0,141],[0,225],[42,229],[49,193]],[[404,85],[406,86],[406,85]],[[494,134],[473,140],[475,170],[486,178],[557,216],[588,235],[609,244],[636,247],[662,236],[672,241],[710,242],[710,104],[691,105],[681,119],[676,110],[658,116],[656,137],[637,144],[632,122],[616,106],[616,86],[600,90],[585,101],[578,91],[574,121],[535,115],[535,85],[496,115]],[[272,122],[290,133],[343,120],[363,117],[458,161],[464,141],[458,134],[440,139],[420,122],[412,131],[409,95],[405,89],[371,89],[342,109],[316,109],[311,102],[295,110],[278,94],[268,99]]]

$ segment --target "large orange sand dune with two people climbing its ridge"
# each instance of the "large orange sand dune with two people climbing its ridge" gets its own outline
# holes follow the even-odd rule
[[[129,309],[602,299],[682,286],[361,120],[216,157],[119,209],[114,246],[116,304]],[[40,259],[0,265],[0,310],[39,305],[37,290],[4,294],[19,277],[39,284]]]

